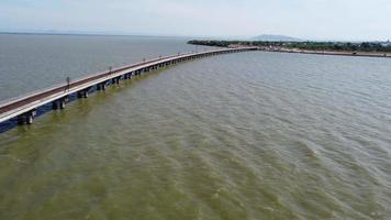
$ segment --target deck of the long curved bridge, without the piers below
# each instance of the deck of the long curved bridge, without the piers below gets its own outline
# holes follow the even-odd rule
[[[217,55],[223,53],[234,53],[253,51],[256,47],[243,47],[243,48],[223,48],[213,50],[199,53],[190,53],[175,56],[166,56],[157,59],[152,59],[138,64],[133,64],[129,66],[123,66],[111,72],[98,73],[88,77],[83,77],[67,84],[62,84],[58,86],[51,87],[48,89],[35,91],[20,98],[14,98],[0,103],[0,123],[12,118],[25,114],[26,112],[34,111],[36,108],[44,106],[46,103],[57,101],[71,94],[88,91],[91,87],[105,84],[109,80],[122,77],[124,75],[134,75],[134,73],[149,70],[152,67],[166,66],[176,62],[181,62],[185,59],[199,58],[209,55]]]

